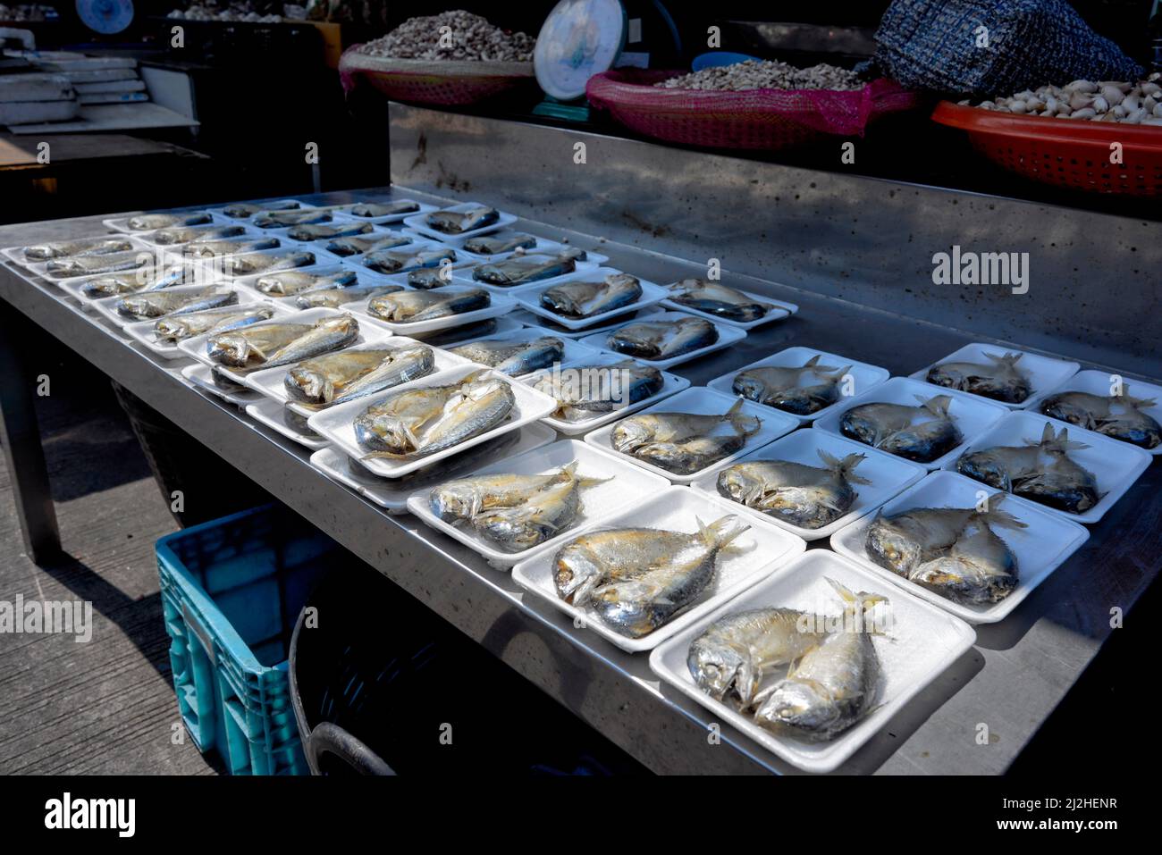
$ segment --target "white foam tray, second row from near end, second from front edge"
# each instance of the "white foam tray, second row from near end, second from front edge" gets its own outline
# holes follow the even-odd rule
[[[804,529],[798,525],[791,525],[779,517],[768,516],[767,513],[763,513],[754,508],[748,508],[737,502],[736,504],[747,513],[769,520],[792,534],[797,534],[804,540],[822,540],[823,538],[831,537],[845,525],[854,523],[856,519],[871,513],[889,498],[898,494],[901,490],[911,487],[927,474],[927,470],[919,464],[913,464],[909,460],[904,460],[903,458],[897,458],[894,454],[887,454],[882,451],[869,448],[861,443],[856,443],[854,439],[837,437],[833,433],[824,433],[823,431],[808,430],[798,430],[792,433],[788,433],[786,437],[776,439],[769,445],[765,445],[748,454],[744,454],[734,460],[734,462],[746,464],[760,460],[789,460],[795,464],[804,464],[806,466],[823,468],[825,465],[819,458],[818,452],[820,451],[824,451],[839,460],[842,460],[848,454],[863,454],[866,460],[860,462],[860,465],[855,468],[854,474],[871,482],[869,484],[852,484],[852,489],[855,490],[855,502],[852,504],[851,510],[835,522],[829,523],[827,525],[818,529]],[[727,502],[733,502],[734,500],[729,496],[723,496],[718,491],[718,477],[722,475],[722,472],[723,469],[718,469],[709,475],[704,475],[695,480],[690,487],[696,490],[708,493],[711,496],[722,496]]]

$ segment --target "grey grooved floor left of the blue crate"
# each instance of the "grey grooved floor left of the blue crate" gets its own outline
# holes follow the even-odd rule
[[[0,634],[0,773],[213,774],[184,728],[172,739],[153,541],[177,524],[108,382],[73,362],[48,373],[37,415],[67,556],[23,554],[0,460],[0,599],[91,601],[93,637]]]

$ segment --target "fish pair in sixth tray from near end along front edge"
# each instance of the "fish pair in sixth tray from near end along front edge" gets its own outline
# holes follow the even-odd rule
[[[234,368],[274,368],[346,347],[358,337],[354,316],[337,315],[314,324],[272,323],[216,333],[207,339],[206,352]]]

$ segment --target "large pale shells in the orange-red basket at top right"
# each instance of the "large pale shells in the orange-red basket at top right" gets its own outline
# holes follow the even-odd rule
[[[1012,98],[982,101],[976,106],[1025,116],[1162,125],[1162,73],[1154,72],[1136,84],[1074,80],[1067,86],[1026,89]]]

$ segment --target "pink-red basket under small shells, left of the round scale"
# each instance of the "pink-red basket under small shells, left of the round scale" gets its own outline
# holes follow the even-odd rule
[[[343,88],[363,77],[394,101],[462,107],[531,86],[532,63],[390,59],[350,48],[339,58]]]

